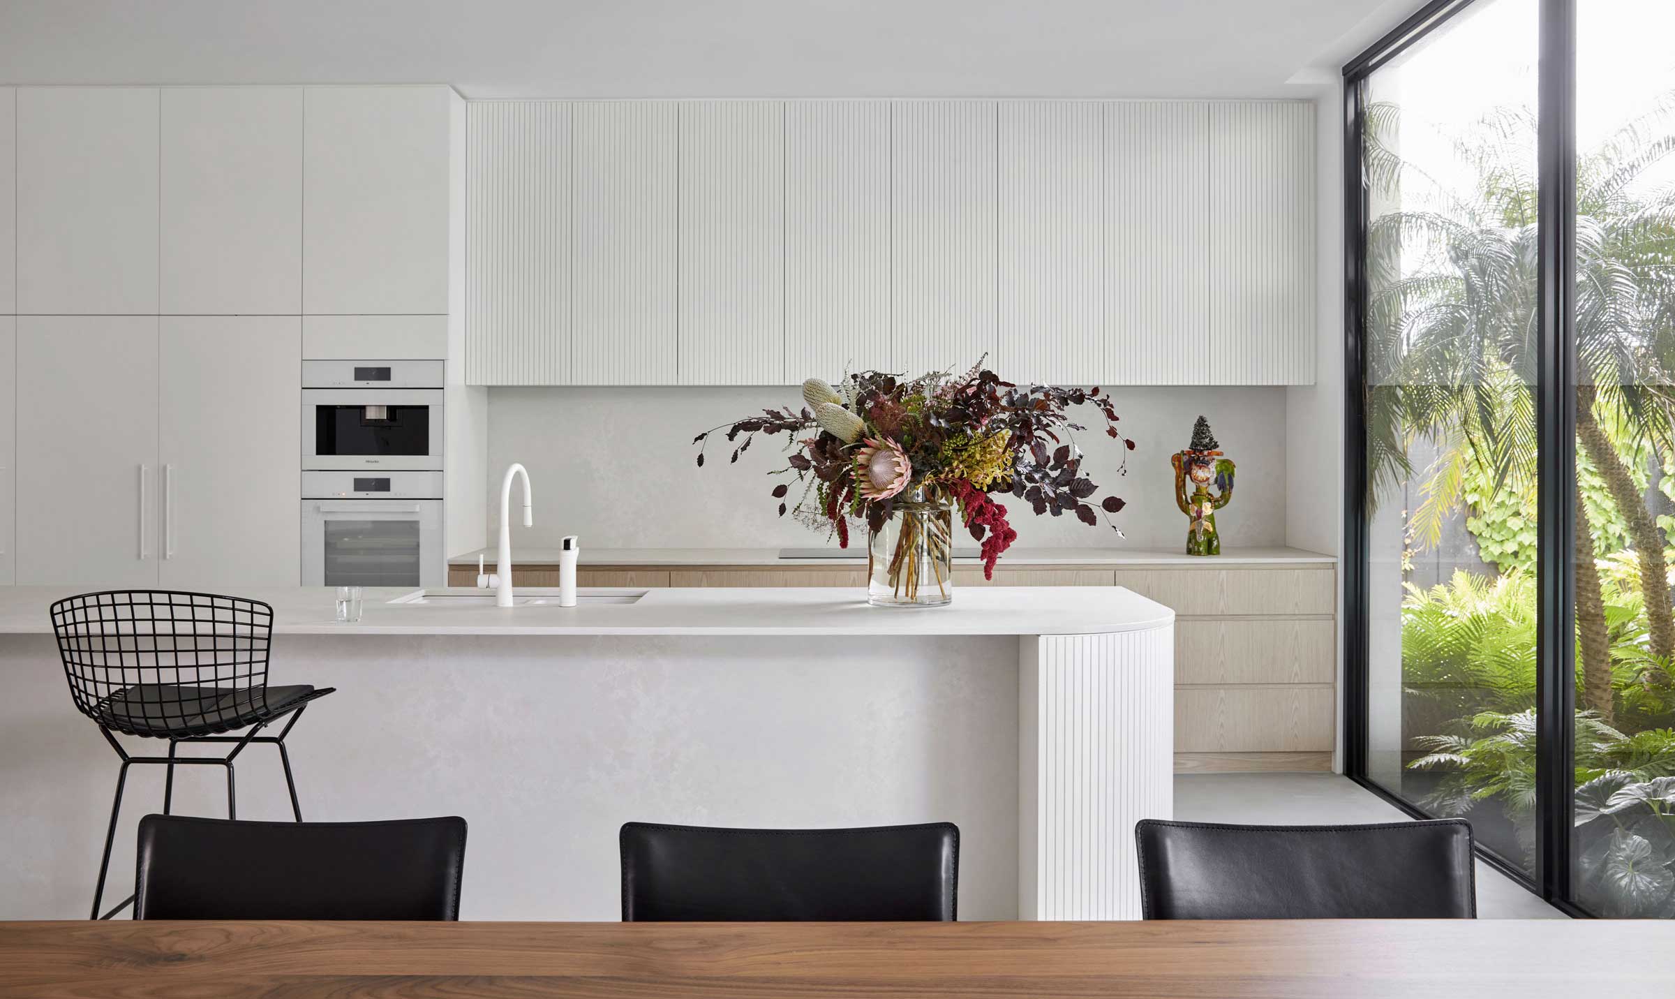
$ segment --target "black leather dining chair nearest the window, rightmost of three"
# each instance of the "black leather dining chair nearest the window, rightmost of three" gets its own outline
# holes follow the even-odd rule
[[[1134,826],[1144,919],[1476,919],[1471,823]]]

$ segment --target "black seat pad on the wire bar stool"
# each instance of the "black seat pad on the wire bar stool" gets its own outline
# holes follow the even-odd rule
[[[208,687],[134,684],[94,706],[94,719],[129,736],[191,739],[268,722],[325,697],[335,687]]]

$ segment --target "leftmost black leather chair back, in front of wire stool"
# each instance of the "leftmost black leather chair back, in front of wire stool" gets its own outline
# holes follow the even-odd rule
[[[459,919],[466,820],[139,820],[134,919]]]

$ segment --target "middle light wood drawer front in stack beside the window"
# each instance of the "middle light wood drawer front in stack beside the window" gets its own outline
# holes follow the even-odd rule
[[[1174,682],[1330,684],[1335,642],[1332,620],[1183,620],[1174,625]]]

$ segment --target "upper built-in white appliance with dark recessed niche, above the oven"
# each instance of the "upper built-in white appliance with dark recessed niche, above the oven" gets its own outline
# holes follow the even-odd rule
[[[441,471],[441,360],[305,360],[303,469]]]

